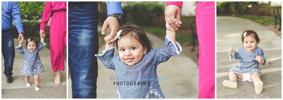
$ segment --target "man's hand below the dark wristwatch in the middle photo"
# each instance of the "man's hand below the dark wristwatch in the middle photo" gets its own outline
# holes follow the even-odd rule
[[[117,18],[115,17],[107,17],[106,20],[104,21],[101,34],[104,35],[106,33],[107,28],[111,29],[111,33],[110,35],[108,35],[108,38],[107,38],[107,42],[106,42],[107,44],[110,44],[113,41],[115,41],[113,38],[115,38],[115,35],[118,32],[117,30],[118,30],[119,25],[120,24]]]

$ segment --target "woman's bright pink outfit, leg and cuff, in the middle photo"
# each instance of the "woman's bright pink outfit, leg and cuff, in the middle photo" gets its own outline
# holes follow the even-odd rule
[[[167,2],[182,8],[182,2]],[[195,22],[199,46],[198,98],[215,98],[215,2],[197,2]]]

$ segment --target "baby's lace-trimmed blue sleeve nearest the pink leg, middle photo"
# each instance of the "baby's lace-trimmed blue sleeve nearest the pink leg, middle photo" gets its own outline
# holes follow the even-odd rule
[[[182,46],[176,41],[165,36],[164,46],[154,52],[152,63],[157,66],[159,63],[167,61],[172,55],[177,55],[182,51]],[[152,51],[151,51],[152,52]]]

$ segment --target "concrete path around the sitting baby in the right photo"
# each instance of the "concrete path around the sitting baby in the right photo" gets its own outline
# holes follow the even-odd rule
[[[281,98],[281,38],[266,27],[243,18],[216,17],[216,98]],[[259,65],[261,81],[264,82],[261,94],[256,94],[253,82],[237,81],[238,88],[231,89],[222,85],[229,80],[228,70],[239,64],[239,60],[229,60],[228,50],[236,51],[243,46],[241,33],[243,30],[254,30],[261,42],[258,47],[264,50],[267,65]]]

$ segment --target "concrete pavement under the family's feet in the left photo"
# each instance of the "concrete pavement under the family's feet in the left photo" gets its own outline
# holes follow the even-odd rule
[[[19,40],[14,39],[14,46],[19,46]],[[26,42],[26,41],[25,41]],[[23,47],[26,47],[25,43]],[[7,83],[4,73],[4,58],[2,56],[2,98],[67,98],[67,77],[66,71],[61,71],[61,85],[54,85],[55,73],[53,73],[50,62],[50,50],[43,48],[39,51],[40,60],[44,67],[45,73],[39,75],[40,91],[34,90],[34,79],[31,76],[29,82],[31,87],[27,87],[24,81],[24,75],[20,74],[20,68],[24,62],[24,54],[20,54],[15,49],[15,58],[13,65],[13,82]],[[65,70],[66,70],[65,62]]]

